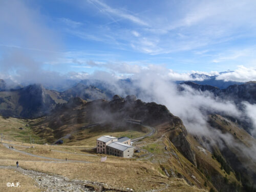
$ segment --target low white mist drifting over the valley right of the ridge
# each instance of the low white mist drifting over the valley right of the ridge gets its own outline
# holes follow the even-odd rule
[[[232,100],[217,97],[208,91],[198,91],[185,84],[178,85],[169,80],[166,71],[163,69],[145,70],[140,74],[134,75],[131,80],[132,83],[128,83],[128,86],[127,84],[126,86],[120,86],[120,83],[117,83],[111,74],[109,76],[112,78],[108,78],[107,81],[111,84],[109,89],[122,97],[127,94],[134,94],[142,101],[154,101],[165,105],[172,114],[182,119],[190,134],[209,138],[210,144],[205,143],[205,147],[208,150],[211,150],[211,146],[215,144],[218,144],[220,148],[228,144],[236,147],[239,152],[246,154],[255,162],[256,157],[252,155],[256,153],[255,143],[251,143],[248,148],[243,144],[239,144],[231,134],[224,134],[217,129],[212,129],[208,123],[208,115],[220,114],[238,121],[249,120],[252,122],[249,123],[251,125],[249,127],[251,135],[255,137],[256,105],[241,102],[240,106],[238,106]],[[104,75],[108,77],[105,73]],[[91,78],[97,78],[97,74],[92,75]],[[104,80],[102,77],[100,79]],[[182,86],[184,90],[180,91],[178,86]]]

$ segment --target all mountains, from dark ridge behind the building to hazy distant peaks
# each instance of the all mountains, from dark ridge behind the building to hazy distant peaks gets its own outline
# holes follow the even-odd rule
[[[161,164],[168,177],[182,178],[199,188],[209,186],[212,191],[255,191],[256,165],[252,152],[256,142],[249,134],[248,122],[242,118],[205,112],[206,126],[212,133],[218,133],[205,136],[189,133],[182,120],[166,106],[127,95],[131,90],[141,91],[133,87],[132,79],[119,80],[117,87],[98,80],[83,80],[61,92],[48,90],[40,84],[6,90],[5,82],[1,83],[0,114],[5,118],[32,119],[28,120],[28,126],[36,137],[47,142],[65,138],[65,142],[72,145],[103,129],[143,131],[139,125],[127,124],[127,119],[137,119],[143,125],[155,127],[156,139],[164,137],[166,153],[172,156]],[[118,86],[123,88],[125,97],[114,95]],[[177,85],[180,92],[186,87],[231,100],[238,106],[243,102],[256,103],[254,81],[233,84],[226,89],[187,81]]]

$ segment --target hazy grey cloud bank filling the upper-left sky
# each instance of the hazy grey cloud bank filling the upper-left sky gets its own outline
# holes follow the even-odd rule
[[[57,34],[44,16],[23,1],[0,1],[0,66],[16,82],[60,83],[58,72],[43,68],[58,57]]]

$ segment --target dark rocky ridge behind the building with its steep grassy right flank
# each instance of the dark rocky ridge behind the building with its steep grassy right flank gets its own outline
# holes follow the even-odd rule
[[[221,118],[221,116],[216,117]],[[66,145],[83,145],[90,148],[95,145],[97,136],[104,133],[117,137],[146,133],[141,126],[129,126],[126,119],[141,120],[144,125],[155,127],[156,134],[151,138],[143,139],[144,144],[139,143],[136,146],[154,154],[147,160],[160,163],[168,177],[183,178],[189,185],[200,188],[206,185],[218,191],[221,189],[235,191],[242,188],[238,175],[243,176],[243,169],[236,168],[236,163],[240,162],[241,167],[246,170],[244,173],[250,172],[248,181],[243,181],[243,184],[245,187],[251,186],[255,168],[247,166],[249,161],[253,163],[250,157],[245,157],[240,151],[240,155],[237,155],[232,162],[229,154],[237,151],[234,151],[235,148],[230,143],[227,143],[225,150],[220,145],[209,145],[206,138],[187,133],[181,119],[172,115],[164,105],[145,103],[135,96],[121,98],[115,95],[111,101],[91,102],[73,98],[68,103],[57,105],[51,115],[33,120],[30,126],[37,136],[49,139],[49,142],[68,136],[63,137]],[[88,126],[99,122],[100,124],[95,126]],[[214,125],[210,121],[209,123]],[[212,127],[220,129],[217,124]],[[249,142],[248,138],[255,143],[255,140],[243,129],[233,128],[233,131],[243,137],[243,139],[238,138],[237,144],[243,143],[245,148],[249,149],[251,145],[246,143]],[[164,151],[164,146],[167,146],[167,151]],[[225,164],[219,157],[224,159]]]

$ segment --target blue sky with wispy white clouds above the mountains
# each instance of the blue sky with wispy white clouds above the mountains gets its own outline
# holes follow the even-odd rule
[[[256,1],[3,0],[0,76],[129,77],[163,68],[256,79]]]

